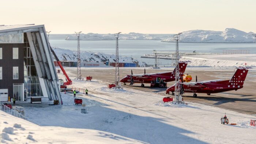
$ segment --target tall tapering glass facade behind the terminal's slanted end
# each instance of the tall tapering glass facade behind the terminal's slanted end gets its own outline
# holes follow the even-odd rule
[[[24,94],[25,98],[43,96],[26,34],[24,34]]]

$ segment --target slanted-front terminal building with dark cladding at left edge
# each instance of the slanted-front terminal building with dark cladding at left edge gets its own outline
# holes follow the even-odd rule
[[[0,25],[0,101],[48,97],[61,101],[44,25]]]

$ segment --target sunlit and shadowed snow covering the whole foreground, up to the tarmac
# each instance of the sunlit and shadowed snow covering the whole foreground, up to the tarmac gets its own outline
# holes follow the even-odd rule
[[[71,78],[74,78],[73,75]],[[163,103],[164,95],[129,88],[109,89],[107,83],[95,79],[91,82],[73,80],[72,86],[76,90],[89,90],[89,96],[82,90],[77,93],[77,98],[83,99],[89,113],[80,113],[82,106],[75,105],[74,97],[69,93],[62,93],[64,105],[49,106],[53,102],[46,99],[42,104],[34,105],[29,101],[21,102],[18,105],[25,107],[28,120],[34,124],[0,113],[2,140],[6,143],[33,142],[30,140],[33,136],[35,141],[41,143],[197,144],[255,141],[256,128],[249,126],[251,119],[256,120],[253,115],[191,102],[176,106]],[[222,125],[220,118],[225,113],[230,123],[237,125]],[[24,129],[14,128],[14,124],[21,124]],[[15,134],[3,131],[8,127],[14,128]],[[12,141],[7,140],[6,135]]]

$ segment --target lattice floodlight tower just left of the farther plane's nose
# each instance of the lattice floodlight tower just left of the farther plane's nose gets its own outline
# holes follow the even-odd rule
[[[119,38],[119,33],[114,34],[114,37],[116,38],[116,77],[115,77],[115,84],[116,88],[121,88],[120,85],[120,76],[119,76],[119,54],[118,54],[118,38]]]

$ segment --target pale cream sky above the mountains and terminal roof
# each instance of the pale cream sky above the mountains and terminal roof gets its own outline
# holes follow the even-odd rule
[[[0,24],[45,24],[51,34],[256,33],[256,0],[0,0]]]

